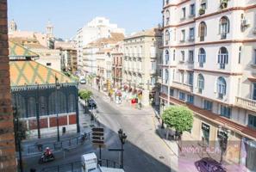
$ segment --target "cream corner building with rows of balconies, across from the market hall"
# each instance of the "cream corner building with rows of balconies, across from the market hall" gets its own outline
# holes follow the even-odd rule
[[[122,68],[123,95],[127,99],[138,98],[139,103],[148,106],[150,100],[159,103],[157,59],[161,33],[152,28],[127,37],[124,40]]]

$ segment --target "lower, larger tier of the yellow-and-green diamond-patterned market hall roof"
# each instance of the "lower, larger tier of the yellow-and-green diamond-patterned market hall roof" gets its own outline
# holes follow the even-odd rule
[[[55,83],[55,76],[58,77],[59,83],[76,83],[63,73],[32,60],[10,61],[9,72],[11,86]]]

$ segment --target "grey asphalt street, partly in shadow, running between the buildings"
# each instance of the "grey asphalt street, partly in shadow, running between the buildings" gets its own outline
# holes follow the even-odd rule
[[[85,87],[81,86],[81,88]],[[94,112],[97,114],[101,126],[105,128],[107,148],[102,151],[102,158],[120,161],[120,153],[108,151],[108,149],[121,148],[117,131],[122,128],[128,135],[124,145],[124,169],[127,172],[170,172],[172,152],[155,132],[153,112],[148,109],[138,110],[133,107],[118,106],[114,102],[109,102],[106,95],[95,89],[91,90],[95,101],[97,101],[97,109]],[[78,162],[81,155],[92,151],[97,153],[97,157],[99,156],[98,150],[90,142],[87,142],[78,149],[66,152],[65,158],[62,151],[56,153],[57,159],[52,163],[39,165],[37,163],[39,156],[28,157],[25,161],[27,170],[34,168],[40,171],[44,167]]]

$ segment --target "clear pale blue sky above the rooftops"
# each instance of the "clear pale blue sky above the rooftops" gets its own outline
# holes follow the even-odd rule
[[[52,22],[53,34],[71,39],[96,16],[109,18],[126,34],[153,28],[161,22],[161,0],[8,0],[9,21],[18,30],[43,32]]]

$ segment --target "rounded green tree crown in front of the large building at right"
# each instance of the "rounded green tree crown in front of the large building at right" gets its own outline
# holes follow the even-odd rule
[[[172,106],[163,113],[165,124],[177,132],[190,131],[193,126],[193,113],[188,107]]]

